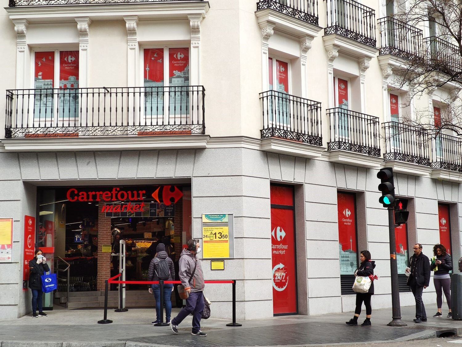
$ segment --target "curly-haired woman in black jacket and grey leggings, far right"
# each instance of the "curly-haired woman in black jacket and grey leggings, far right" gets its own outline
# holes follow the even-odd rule
[[[433,275],[433,283],[436,290],[436,303],[438,305],[438,312],[433,315],[433,317],[441,317],[441,306],[443,306],[443,291],[446,301],[448,302],[449,313],[448,318],[452,317],[451,312],[451,277],[449,275],[450,270],[452,270],[452,259],[451,256],[447,253],[446,247],[441,244],[435,245],[433,247],[433,255],[435,256],[435,261],[432,260],[432,265],[430,265],[430,270],[435,271],[438,267],[438,270],[435,271]]]

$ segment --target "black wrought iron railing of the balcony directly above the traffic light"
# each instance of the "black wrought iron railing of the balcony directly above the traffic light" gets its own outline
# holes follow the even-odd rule
[[[399,160],[430,166],[428,132],[399,122],[383,123],[385,135],[384,161]]]

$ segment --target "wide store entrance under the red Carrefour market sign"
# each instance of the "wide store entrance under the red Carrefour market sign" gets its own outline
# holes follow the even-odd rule
[[[44,294],[44,307],[53,307],[53,297],[67,292],[67,283],[70,293],[103,291],[104,279],[120,271],[120,240],[126,242],[126,280],[147,280],[160,242],[177,275],[182,245],[191,237],[190,186],[39,188],[37,200],[36,243],[58,274],[58,290]],[[67,272],[58,271],[65,263],[68,279]],[[146,285],[126,289],[146,291]]]

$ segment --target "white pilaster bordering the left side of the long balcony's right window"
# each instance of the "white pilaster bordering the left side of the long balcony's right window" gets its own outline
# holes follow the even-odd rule
[[[125,27],[127,28],[127,87],[138,87],[139,74],[139,47],[137,24],[138,17],[124,17]]]

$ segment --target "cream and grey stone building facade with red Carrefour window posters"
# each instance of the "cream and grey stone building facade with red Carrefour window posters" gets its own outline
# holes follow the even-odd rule
[[[237,280],[238,319],[353,310],[364,249],[380,277],[373,308],[390,307],[381,167],[394,168],[395,194],[409,200],[395,254],[401,305],[413,304],[403,276],[414,243],[431,256],[441,242],[461,257],[462,140],[400,120],[427,112],[436,122],[460,87],[406,103],[412,86],[397,88],[395,74],[426,50],[383,39],[385,1],[343,2],[365,22],[350,23],[335,0],[3,0],[0,217],[13,218],[13,236],[12,259],[0,263],[2,318],[31,311],[29,217],[36,246],[50,261],[73,261],[75,277],[92,272],[75,287],[95,296],[117,272],[103,250],[115,229],[128,242],[171,236],[179,253],[188,238],[204,242],[203,214],[229,213],[233,256],[221,271],[201,261],[206,279]],[[414,29],[424,48],[430,26]],[[165,186],[172,208],[149,197]],[[133,201],[149,209],[122,211],[128,193],[97,199],[116,188],[144,191]],[[73,189],[86,200],[73,201]],[[109,204],[121,211],[108,215]],[[95,248],[84,256],[84,246]],[[142,278],[137,248],[126,265]],[[206,291],[230,317],[231,289]],[[432,282],[424,301],[436,302]]]

